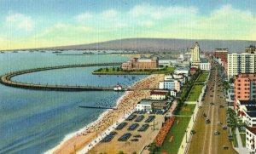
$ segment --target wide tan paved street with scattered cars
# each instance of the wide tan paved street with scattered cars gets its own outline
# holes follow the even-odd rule
[[[219,66],[212,67],[214,69],[207,83],[207,94],[196,117],[195,134],[189,143],[189,154],[236,153],[228,140],[229,129],[223,129],[226,126],[227,103],[219,78],[220,69]],[[203,117],[203,114],[206,117]],[[207,118],[210,120],[208,124],[206,123]],[[219,134],[214,135],[215,131],[218,131]],[[228,150],[223,149],[224,145],[229,147]]]

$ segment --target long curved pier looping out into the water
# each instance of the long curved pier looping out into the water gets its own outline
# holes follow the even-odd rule
[[[26,73],[32,73],[36,71],[48,71],[55,69],[73,68],[73,67],[89,67],[89,66],[120,66],[121,63],[99,63],[99,64],[81,64],[81,65],[68,65],[68,66],[51,66],[43,68],[35,68],[23,71],[14,71],[1,76],[0,83],[15,87],[15,88],[28,88],[28,89],[40,89],[40,90],[55,90],[55,91],[111,91],[113,87],[96,87],[96,86],[65,86],[65,85],[48,85],[37,83],[20,83],[12,81],[11,78]],[[125,88],[123,89],[125,90]]]

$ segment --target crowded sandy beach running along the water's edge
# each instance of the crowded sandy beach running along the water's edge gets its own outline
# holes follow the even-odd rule
[[[164,79],[164,75],[151,75],[144,78],[137,83],[134,83],[132,88],[158,88],[158,83]],[[139,100],[149,98],[148,90],[126,91],[125,94],[117,102],[117,110],[108,110],[95,123],[91,123],[87,127],[74,133],[69,139],[66,139],[55,146],[54,149],[47,151],[47,153],[75,153],[81,150],[85,145],[96,139],[96,136],[101,135],[108,127],[119,119],[123,118],[125,114],[131,112],[135,108]]]

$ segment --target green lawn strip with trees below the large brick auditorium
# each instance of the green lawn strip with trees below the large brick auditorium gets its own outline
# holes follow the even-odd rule
[[[100,68],[96,71],[93,71],[93,74],[101,74],[101,75],[121,75],[121,74],[131,74],[131,75],[149,75],[149,74],[168,74],[174,71],[174,67],[167,67],[160,70],[141,70],[141,71],[122,71],[118,67],[110,67],[110,68]]]

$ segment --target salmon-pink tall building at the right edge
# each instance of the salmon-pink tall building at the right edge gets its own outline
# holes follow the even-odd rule
[[[234,89],[236,100],[256,100],[256,74],[236,75]]]

